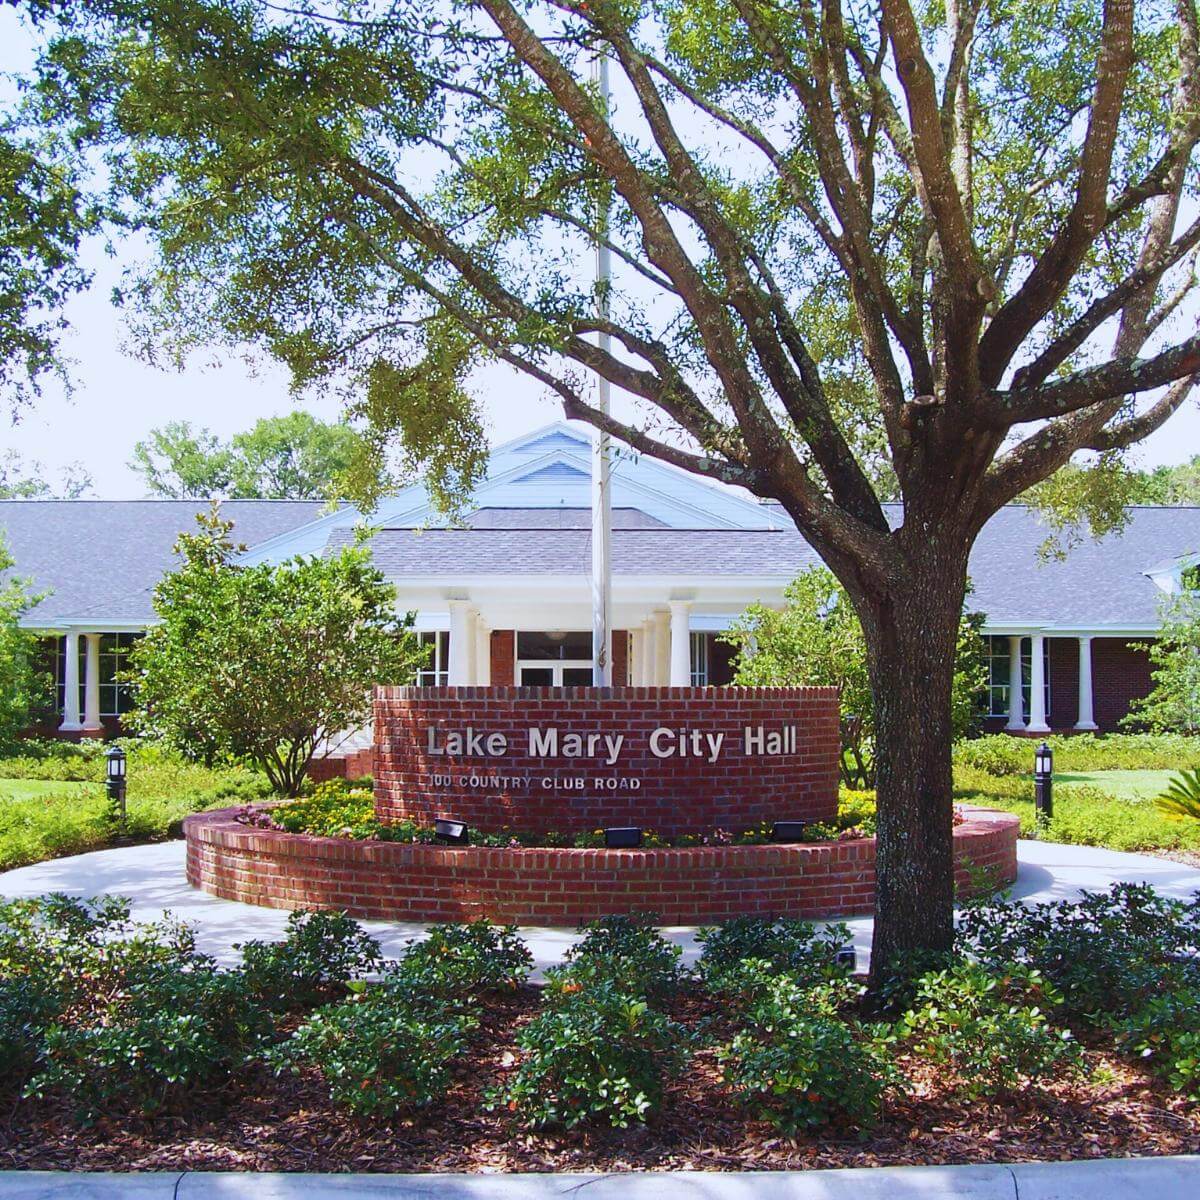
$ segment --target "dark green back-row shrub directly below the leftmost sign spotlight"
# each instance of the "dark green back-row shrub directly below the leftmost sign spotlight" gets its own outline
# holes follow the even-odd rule
[[[486,920],[437,925],[408,948],[385,977],[397,996],[474,1001],[486,992],[515,991],[533,966],[516,925]]]

